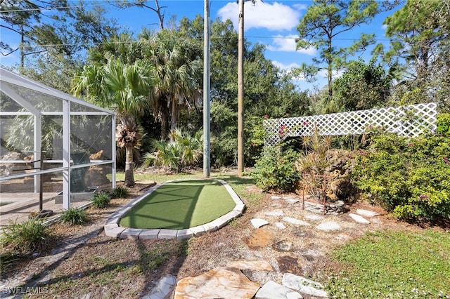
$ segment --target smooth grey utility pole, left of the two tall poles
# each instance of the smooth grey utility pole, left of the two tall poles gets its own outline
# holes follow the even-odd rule
[[[203,176],[211,175],[210,143],[210,5],[203,15]]]

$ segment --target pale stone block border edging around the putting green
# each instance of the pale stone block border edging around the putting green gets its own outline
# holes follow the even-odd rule
[[[205,179],[183,179],[183,180],[205,180]],[[119,225],[120,219],[122,216],[127,213],[131,208],[133,208],[136,204],[139,203],[142,199],[147,197],[151,192],[158,189],[162,185],[165,185],[169,182],[177,182],[183,180],[168,180],[167,182],[162,182],[161,184],[155,185],[151,187],[146,193],[142,194],[140,197],[137,197],[133,201],[129,202],[126,206],[120,208],[115,211],[113,215],[110,215],[106,224],[104,226],[105,234],[108,237],[113,237],[117,239],[177,239],[184,240],[189,239],[191,237],[197,237],[205,232],[213,232],[214,230],[219,230],[219,228],[224,227],[226,223],[230,220],[237,218],[242,215],[245,204],[238,197],[238,194],[234,192],[234,190],[226,183],[224,180],[212,179],[221,182],[224,185],[225,189],[229,192],[231,198],[235,202],[236,206],[233,210],[229,211],[225,215],[221,215],[219,218],[212,220],[211,222],[205,223],[204,225],[198,225],[195,227],[190,227],[185,230],[168,230],[168,229],[138,229],[138,228],[130,228],[130,227],[121,227]],[[210,179],[209,179],[210,180]]]

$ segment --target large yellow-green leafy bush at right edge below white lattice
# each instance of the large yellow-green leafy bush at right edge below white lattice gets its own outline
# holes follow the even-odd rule
[[[361,151],[355,184],[397,218],[450,218],[450,138],[377,135]]]

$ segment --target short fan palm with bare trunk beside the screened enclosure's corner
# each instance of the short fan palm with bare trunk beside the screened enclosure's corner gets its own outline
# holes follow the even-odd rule
[[[134,186],[133,148],[142,138],[137,119],[148,109],[148,94],[156,83],[154,78],[148,61],[126,64],[109,58],[103,66],[86,65],[73,82],[75,95],[84,95],[87,100],[117,113],[120,123],[116,128],[116,141],[126,150],[124,185],[127,187]]]

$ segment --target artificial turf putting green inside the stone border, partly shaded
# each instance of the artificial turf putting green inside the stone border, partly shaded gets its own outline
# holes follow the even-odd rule
[[[184,230],[233,210],[236,203],[217,180],[168,182],[139,201],[120,220],[124,227]]]

